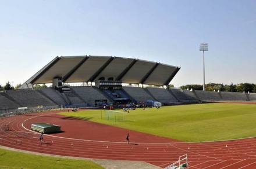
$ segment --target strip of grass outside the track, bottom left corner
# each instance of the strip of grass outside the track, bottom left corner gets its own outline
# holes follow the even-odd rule
[[[103,168],[92,161],[38,156],[0,149],[0,168]]]

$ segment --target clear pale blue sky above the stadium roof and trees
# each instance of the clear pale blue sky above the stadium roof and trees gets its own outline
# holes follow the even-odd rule
[[[0,84],[56,56],[118,56],[181,67],[171,84],[256,83],[256,1],[2,1]]]

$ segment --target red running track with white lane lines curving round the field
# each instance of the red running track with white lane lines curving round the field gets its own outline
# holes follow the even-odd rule
[[[41,145],[38,134],[27,129],[34,122],[58,124],[65,132],[45,135]],[[5,124],[10,130],[5,130]],[[127,132],[131,144],[124,141]],[[256,168],[256,138],[179,142],[56,115],[56,111],[0,119],[0,145],[63,156],[146,161],[159,167],[166,167],[187,153],[190,168]]]

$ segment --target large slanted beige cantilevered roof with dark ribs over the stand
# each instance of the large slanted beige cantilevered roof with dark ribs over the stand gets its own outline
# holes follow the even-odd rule
[[[55,57],[24,84],[62,82],[95,82],[99,78],[112,78],[122,83],[168,85],[179,67],[135,58],[112,56],[62,56]]]

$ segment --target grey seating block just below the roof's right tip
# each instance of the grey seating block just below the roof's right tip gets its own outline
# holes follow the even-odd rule
[[[173,95],[179,100],[179,102],[198,102],[198,99],[193,95],[191,97],[186,91],[182,91],[181,89],[169,89]],[[192,93],[193,94],[193,93]]]

